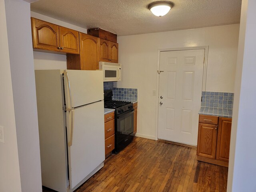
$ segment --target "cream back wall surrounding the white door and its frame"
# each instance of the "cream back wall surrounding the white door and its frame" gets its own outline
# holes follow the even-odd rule
[[[122,81],[138,88],[138,136],[155,137],[158,49],[209,46],[206,90],[234,92],[239,24],[118,37]]]

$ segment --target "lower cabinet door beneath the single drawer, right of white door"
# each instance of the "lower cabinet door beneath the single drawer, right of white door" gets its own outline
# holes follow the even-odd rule
[[[199,123],[197,155],[215,159],[217,127],[215,125]]]

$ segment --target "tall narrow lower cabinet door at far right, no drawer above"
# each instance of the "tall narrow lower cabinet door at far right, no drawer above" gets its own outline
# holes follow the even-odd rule
[[[231,118],[219,118],[216,159],[226,162],[229,159],[231,123]]]

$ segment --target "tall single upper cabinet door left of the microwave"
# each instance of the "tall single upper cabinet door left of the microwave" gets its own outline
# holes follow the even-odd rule
[[[80,33],[81,70],[99,69],[98,38]]]

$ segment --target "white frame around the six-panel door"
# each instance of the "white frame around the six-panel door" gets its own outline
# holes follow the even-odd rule
[[[155,140],[158,140],[158,103],[159,103],[159,80],[160,80],[160,74],[158,74],[158,71],[160,70],[160,53],[164,52],[164,51],[183,51],[183,50],[196,50],[196,49],[204,49],[204,69],[203,69],[202,91],[205,91],[206,90],[206,75],[207,75],[209,46],[194,46],[194,47],[183,47],[183,48],[158,49],[157,78],[156,78],[156,134],[155,134]]]

